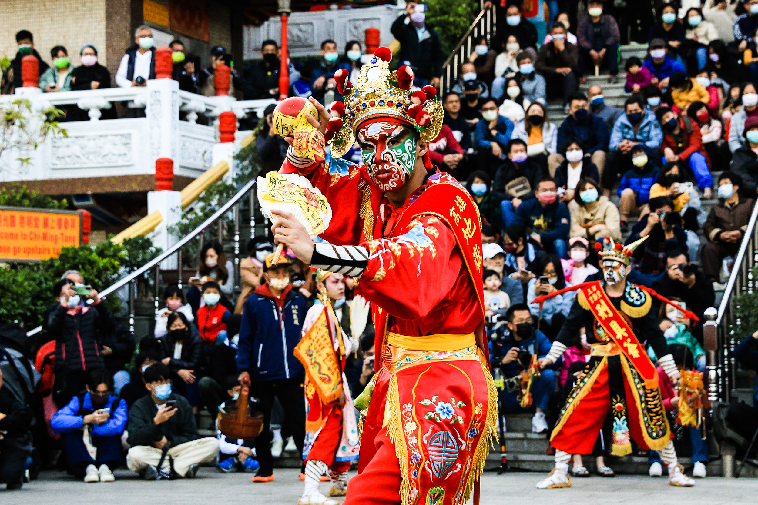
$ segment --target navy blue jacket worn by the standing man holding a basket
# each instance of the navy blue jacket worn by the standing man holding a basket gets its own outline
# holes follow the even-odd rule
[[[237,369],[249,372],[254,381],[302,377],[305,370],[293,354],[302,337],[305,298],[294,289],[284,295],[284,308],[261,286],[250,295],[243,309]]]

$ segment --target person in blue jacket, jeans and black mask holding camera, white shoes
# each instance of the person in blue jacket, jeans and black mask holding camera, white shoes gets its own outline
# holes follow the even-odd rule
[[[509,335],[503,336],[500,348],[506,351],[500,358],[500,363],[493,362],[493,366],[503,371],[506,379],[518,376],[528,366],[531,356],[545,357],[550,351],[550,340],[543,332],[534,328],[534,320],[526,304],[514,304],[506,313],[508,320]],[[545,420],[545,412],[550,401],[550,395],[556,388],[556,369],[560,369],[561,360],[553,363],[542,370],[539,376],[534,376],[531,386],[531,395],[534,398],[536,412],[531,418],[531,431],[534,433],[547,432],[548,426]],[[518,401],[518,391],[503,390],[500,393],[500,404],[505,413],[525,412]]]

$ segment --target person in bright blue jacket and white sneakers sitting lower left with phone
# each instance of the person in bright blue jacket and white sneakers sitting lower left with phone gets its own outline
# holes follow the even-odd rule
[[[89,373],[85,387],[52,416],[50,427],[63,434],[70,474],[84,482],[113,482],[113,470],[121,464],[127,402],[113,394],[113,381],[103,369]]]

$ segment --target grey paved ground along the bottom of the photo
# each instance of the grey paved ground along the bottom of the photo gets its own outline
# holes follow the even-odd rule
[[[144,482],[127,470],[115,472],[116,482],[84,484],[63,473],[42,472],[39,479],[24,485],[21,491],[5,491],[3,505],[57,505],[58,503],[118,503],[118,505],[194,505],[218,503],[255,503],[255,505],[295,505],[302,493],[296,469],[277,469],[277,479],[266,484],[252,484],[250,473],[222,474],[214,468],[200,469],[195,480]],[[673,488],[666,479],[642,476],[619,476],[615,479],[576,479],[571,489],[537,490],[540,479],[535,472],[496,475],[485,473],[481,505],[503,505],[518,497],[518,503],[756,503],[758,480],[701,479],[695,488]],[[326,492],[328,485],[321,485]],[[513,503],[513,502],[512,502]]]

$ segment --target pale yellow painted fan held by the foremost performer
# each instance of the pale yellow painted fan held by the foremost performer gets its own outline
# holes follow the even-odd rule
[[[271,210],[289,212],[305,226],[311,238],[327,229],[331,220],[331,206],[327,198],[308,179],[296,173],[269,172],[265,178],[258,177],[258,202],[262,214],[271,223],[277,220]],[[283,244],[277,247],[271,265],[279,262],[283,248]]]

